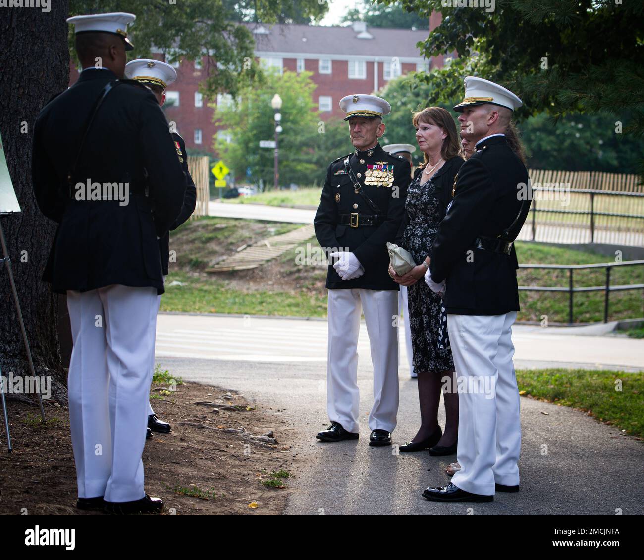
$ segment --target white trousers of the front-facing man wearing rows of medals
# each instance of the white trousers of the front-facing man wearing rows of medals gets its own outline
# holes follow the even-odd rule
[[[374,366],[371,430],[392,432],[398,412],[398,293],[393,290],[328,291],[328,418],[358,432],[360,395],[357,343],[361,311]]]

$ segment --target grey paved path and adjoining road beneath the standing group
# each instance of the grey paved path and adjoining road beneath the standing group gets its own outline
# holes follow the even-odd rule
[[[401,329],[401,333],[403,329]],[[566,334],[556,327],[516,325],[516,367],[644,369],[644,341]],[[326,412],[326,333],[323,320],[160,314],[157,362],[185,379],[243,392],[274,410],[276,437],[293,444],[287,514],[644,514],[644,447],[581,412],[522,399],[521,492],[485,504],[439,504],[422,488],[444,484],[455,458],[397,454],[368,447],[372,399],[368,341],[361,329],[358,383],[361,439],[329,444],[314,435]],[[402,342],[402,340],[401,340]],[[404,352],[404,345],[401,344]],[[419,425],[417,381],[400,369],[395,443]],[[441,407],[439,420],[444,425]],[[544,447],[547,446],[547,447]],[[547,449],[547,454],[544,450]]]

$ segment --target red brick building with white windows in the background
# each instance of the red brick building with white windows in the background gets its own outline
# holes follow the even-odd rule
[[[432,14],[430,30],[439,23],[440,14]],[[399,75],[442,66],[442,56],[428,61],[416,46],[427,38],[427,29],[367,28],[362,22],[346,27],[247,25],[260,64],[279,72],[312,72],[310,78],[317,86],[314,101],[323,120],[344,116],[339,101],[345,95],[377,92]],[[166,59],[163,53],[154,58]],[[183,60],[174,66],[178,77],[166,90],[167,119],[176,122],[190,153],[213,153],[212,138],[218,133],[214,110],[198,92],[199,82],[205,79],[205,59]],[[78,77],[76,68],[71,68],[70,76],[71,85]],[[227,96],[218,95],[216,102],[227,102]]]

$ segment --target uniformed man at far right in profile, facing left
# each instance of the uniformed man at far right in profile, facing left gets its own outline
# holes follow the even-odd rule
[[[434,501],[491,501],[519,490],[520,398],[511,327],[519,310],[514,240],[526,220],[526,167],[504,131],[521,100],[477,77],[455,106],[476,152],[459,170],[453,200],[431,248],[426,282],[442,293],[459,387],[461,466]],[[472,132],[468,133],[468,128]]]

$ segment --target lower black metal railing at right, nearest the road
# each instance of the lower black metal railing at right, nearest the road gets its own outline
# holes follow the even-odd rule
[[[520,264],[519,268],[538,268],[538,269],[567,269],[568,287],[560,286],[519,286],[520,291],[533,292],[565,292],[568,293],[568,325],[582,324],[573,323],[574,319],[574,294],[580,292],[598,292],[605,291],[604,296],[604,323],[609,318],[609,294],[617,291],[642,290],[642,316],[644,317],[644,284],[625,284],[611,285],[611,269],[618,266],[642,266],[644,269],[644,260],[625,260],[623,262],[602,262],[598,264]],[[574,287],[573,271],[581,269],[605,268],[606,283],[603,286],[591,287]]]

